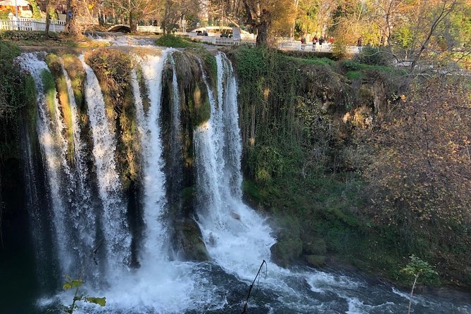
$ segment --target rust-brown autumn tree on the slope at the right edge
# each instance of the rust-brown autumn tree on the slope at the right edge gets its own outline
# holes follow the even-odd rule
[[[451,252],[432,248],[460,246],[453,260],[471,253],[471,92],[461,78],[414,83],[361,137],[372,220],[397,230],[405,249],[445,260]]]

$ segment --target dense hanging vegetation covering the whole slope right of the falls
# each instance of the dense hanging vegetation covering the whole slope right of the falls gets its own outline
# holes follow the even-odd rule
[[[327,65],[248,47],[228,56],[239,77],[244,195],[275,215],[279,241],[272,253],[278,263],[304,259],[322,265],[327,256],[327,263],[353,264],[406,285],[397,265],[416,253],[442,262],[442,282],[471,283],[466,279],[471,246],[464,218],[469,198],[463,198],[469,194],[463,190],[469,187],[463,183],[468,173],[463,167],[470,161],[459,140],[470,138],[463,130],[471,130],[464,126],[471,119],[469,110],[450,107],[466,102],[465,84],[410,89],[401,71],[375,60]],[[443,94],[431,102],[425,91]],[[410,96],[396,96],[405,92]],[[406,97],[410,105],[404,106]],[[422,106],[421,101],[434,105]],[[423,108],[426,113],[420,113]],[[417,111],[421,123],[410,115]],[[451,118],[457,111],[461,127]],[[420,126],[427,121],[424,114],[443,127]],[[450,159],[445,151],[451,143],[437,139],[451,134],[457,155]],[[425,137],[434,138],[433,153],[410,149],[415,142],[413,147],[426,149],[420,142]],[[417,159],[427,165],[427,156],[432,165],[448,169],[440,171],[447,180],[432,180],[435,167],[417,168]],[[444,182],[452,182],[453,191]]]

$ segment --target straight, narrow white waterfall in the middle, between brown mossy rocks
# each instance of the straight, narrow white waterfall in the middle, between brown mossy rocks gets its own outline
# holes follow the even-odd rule
[[[145,56],[139,61],[146,87],[149,91],[150,107],[144,115],[137,80],[133,77],[134,99],[137,107],[137,123],[142,136],[142,158],[144,163],[144,251],[143,263],[162,260],[167,244],[166,225],[162,222],[165,199],[165,175],[163,173],[162,140],[159,123],[162,96],[162,71],[168,51],[161,56]],[[134,75],[133,75],[134,76]]]

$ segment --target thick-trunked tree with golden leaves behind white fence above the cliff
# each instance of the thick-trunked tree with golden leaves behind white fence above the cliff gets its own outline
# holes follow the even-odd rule
[[[272,32],[291,29],[296,15],[291,0],[243,0],[246,21],[257,30],[257,46],[266,45]]]

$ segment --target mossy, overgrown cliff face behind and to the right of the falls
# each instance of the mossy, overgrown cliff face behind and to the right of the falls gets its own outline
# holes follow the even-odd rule
[[[147,53],[136,52],[141,57]],[[466,103],[467,87],[439,80],[406,86],[401,70],[355,61],[294,58],[265,49],[239,47],[227,51],[227,56],[234,64],[239,85],[244,196],[255,208],[272,214],[278,240],[272,255],[277,263],[287,266],[301,260],[317,267],[340,260],[401,281],[398,265],[406,263],[404,256],[415,253],[441,263],[439,272],[444,282],[453,280],[469,286],[471,265],[465,256],[471,253],[470,215],[466,195],[471,195],[467,193],[471,165],[466,149],[471,127],[460,126],[470,123],[469,105],[463,110],[441,105],[450,99]],[[73,55],[49,54],[45,60],[49,72],[42,82],[45,94],[48,88],[57,92],[57,96],[54,92],[49,96],[48,108],[58,106],[57,113],[65,124],[61,136],[67,142],[67,166],[74,168],[77,162],[70,118],[73,94],[83,162],[89,169],[84,176],[91,198],[98,199],[94,143],[83,92],[84,69]],[[125,211],[132,234],[130,265],[138,265],[144,223],[143,134],[137,130],[132,82],[136,80],[139,87],[144,116],[150,114],[149,95],[153,90],[142,63],[131,59],[126,51],[98,49],[85,54],[84,61],[94,70],[103,92],[106,119],[116,142],[116,170],[127,199]],[[191,260],[208,258],[193,220],[198,196],[194,130],[210,118],[210,93],[218,91],[215,66],[214,56],[207,51],[190,50],[173,53],[162,70],[163,105],[158,119],[167,165],[165,194],[170,209],[165,219],[172,222],[169,250]],[[70,77],[72,94],[64,85],[63,69]],[[25,87],[18,103],[27,106],[1,116],[0,200],[4,204],[1,223],[6,239],[16,237],[10,222],[18,221],[21,230],[30,227],[30,213],[25,208],[34,206],[33,199],[42,200],[37,206],[42,219],[37,221],[43,229],[50,229],[52,219],[45,209],[51,200],[41,197],[48,191],[44,184],[32,184],[46,180],[45,160],[37,141],[34,82],[19,71],[18,75],[23,77],[18,84]],[[432,89],[443,91],[441,97],[429,99],[434,100],[437,111],[424,111],[431,102],[422,100]],[[174,106],[176,100],[178,107]],[[414,113],[412,118],[408,118],[410,112]],[[443,114],[437,116],[437,112]],[[453,145],[439,141],[451,138],[440,133],[444,128],[415,123],[431,117],[448,126],[446,134],[451,134]],[[417,138],[420,141],[410,146]],[[444,165],[441,161],[448,158],[446,149],[451,149],[453,162]],[[415,151],[425,156],[420,159],[425,166],[418,172],[414,172],[415,159],[405,158]],[[27,161],[34,177],[23,173]],[[444,172],[451,171],[453,175],[446,182],[453,184],[440,185],[447,175]],[[413,176],[406,180],[409,174]],[[397,180],[391,179],[394,177]],[[6,245],[15,244],[6,241]]]

